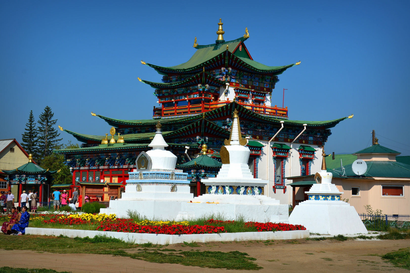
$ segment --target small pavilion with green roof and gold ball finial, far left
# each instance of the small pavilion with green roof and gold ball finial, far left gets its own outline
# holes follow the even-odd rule
[[[14,194],[14,200],[19,203],[20,196],[23,191],[28,193],[29,190],[36,190],[39,192],[39,202],[41,204],[50,202],[50,184],[54,178],[51,175],[58,173],[58,171],[49,171],[41,168],[39,165],[33,162],[33,155],[28,155],[28,163],[20,166],[12,171],[2,170],[7,174],[5,180],[11,185],[11,187],[18,187],[18,193]],[[20,205],[20,204],[19,204]]]

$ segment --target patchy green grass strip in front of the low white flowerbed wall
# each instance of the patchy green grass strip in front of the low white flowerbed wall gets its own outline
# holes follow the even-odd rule
[[[68,238],[66,236],[1,236],[0,246],[5,250],[33,250],[37,252],[50,253],[90,253],[105,254],[114,256],[130,257],[155,263],[182,264],[185,266],[202,266],[209,268],[244,269],[259,270],[262,267],[252,261],[255,258],[248,257],[247,253],[231,251],[224,253],[221,251],[182,251],[162,248],[162,246],[152,243],[135,244],[125,242],[106,236],[96,236],[94,238]],[[187,243],[187,246],[198,246],[195,242]],[[142,247],[140,252],[128,253],[125,250]],[[148,249],[151,248],[151,249]],[[171,252],[166,254],[164,252]],[[172,253],[176,252],[176,253]],[[19,269],[20,270],[20,269]],[[10,271],[0,271],[0,273]],[[14,271],[11,271],[14,273]],[[30,271],[16,271],[16,273],[26,273]],[[34,273],[31,271],[30,273]],[[43,273],[43,271],[39,271]],[[55,273],[56,271],[44,271],[44,273]]]

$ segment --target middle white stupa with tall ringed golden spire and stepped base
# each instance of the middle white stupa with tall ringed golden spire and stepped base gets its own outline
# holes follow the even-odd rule
[[[230,139],[221,147],[221,170],[215,178],[202,180],[206,194],[195,197],[192,202],[181,203],[178,219],[220,214],[230,219],[244,216],[248,221],[287,223],[289,206],[264,196],[266,180],[253,178],[248,167],[251,152],[246,143],[235,110]]]

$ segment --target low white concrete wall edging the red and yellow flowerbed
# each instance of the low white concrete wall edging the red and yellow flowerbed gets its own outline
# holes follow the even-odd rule
[[[289,240],[309,237],[309,230],[289,230],[289,231],[266,231],[266,232],[236,232],[236,233],[215,233],[215,234],[148,234],[148,233],[130,233],[130,232],[112,232],[97,230],[68,230],[58,228],[38,228],[26,227],[25,234],[31,235],[65,235],[74,237],[94,237],[97,234],[107,235],[124,241],[133,241],[134,243],[154,243],[165,245],[167,243],[186,242],[215,242],[215,241],[248,241],[248,240]]]

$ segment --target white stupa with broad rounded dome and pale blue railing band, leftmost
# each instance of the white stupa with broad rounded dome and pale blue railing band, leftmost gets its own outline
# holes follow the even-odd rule
[[[175,170],[177,157],[164,149],[168,144],[162,137],[161,127],[158,121],[157,132],[148,145],[153,149],[138,155],[135,162],[138,168],[128,173],[121,199],[110,200],[109,207],[100,209],[100,213],[127,217],[130,210],[148,218],[172,220],[180,211],[181,202],[193,200],[188,173]]]

